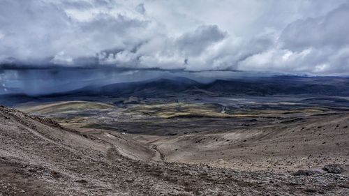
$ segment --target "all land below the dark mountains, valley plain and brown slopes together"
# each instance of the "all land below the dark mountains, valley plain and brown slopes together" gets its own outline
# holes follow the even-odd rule
[[[348,195],[348,102],[133,97],[17,107],[29,115],[0,107],[0,195]]]

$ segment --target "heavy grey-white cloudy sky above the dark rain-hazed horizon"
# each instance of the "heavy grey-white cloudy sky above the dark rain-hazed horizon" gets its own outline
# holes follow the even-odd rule
[[[0,62],[349,75],[346,0],[1,0]]]

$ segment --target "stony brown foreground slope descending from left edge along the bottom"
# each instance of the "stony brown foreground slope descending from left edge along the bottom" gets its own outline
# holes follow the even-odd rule
[[[131,159],[119,149],[122,136],[103,140],[7,107],[0,107],[0,136],[0,195],[349,194],[348,176],[338,174],[292,176]]]

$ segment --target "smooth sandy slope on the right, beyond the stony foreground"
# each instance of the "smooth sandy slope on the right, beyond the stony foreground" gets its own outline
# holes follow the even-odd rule
[[[349,114],[337,113],[307,116],[301,123],[133,139],[156,145],[168,161],[293,172],[334,163],[348,166],[348,126]]]

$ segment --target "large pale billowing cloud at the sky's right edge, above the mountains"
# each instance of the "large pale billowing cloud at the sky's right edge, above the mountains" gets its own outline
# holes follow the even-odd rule
[[[349,74],[349,6],[285,27],[270,50],[239,63],[242,70],[274,70],[315,75]]]

